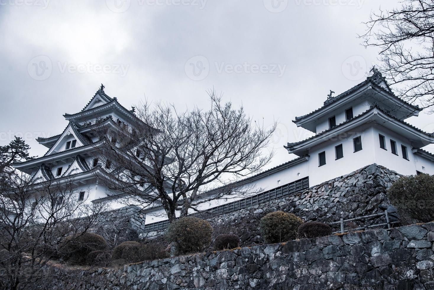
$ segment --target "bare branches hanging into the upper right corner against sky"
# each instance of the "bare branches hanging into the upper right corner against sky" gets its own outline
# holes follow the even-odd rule
[[[399,9],[372,13],[365,24],[363,45],[380,48],[378,69],[398,96],[433,112],[434,2],[404,0]]]

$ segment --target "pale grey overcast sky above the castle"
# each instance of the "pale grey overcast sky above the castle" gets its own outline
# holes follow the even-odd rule
[[[339,94],[363,81],[376,62],[377,49],[365,49],[357,34],[379,5],[0,0],[0,144],[24,136],[31,154],[43,155],[47,148],[35,138],[61,133],[62,115],[79,112],[100,83],[127,108],[145,96],[205,108],[214,87],[265,125],[279,120],[268,167],[279,165],[296,157],[286,142],[310,136],[294,117],[319,108],[330,89]],[[381,8],[398,5],[388,0]],[[433,132],[432,118],[408,121]]]

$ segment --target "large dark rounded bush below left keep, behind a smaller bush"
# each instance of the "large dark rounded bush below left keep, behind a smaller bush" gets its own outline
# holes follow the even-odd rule
[[[84,265],[90,252],[106,248],[107,243],[99,234],[84,233],[64,238],[59,252],[70,264]]]

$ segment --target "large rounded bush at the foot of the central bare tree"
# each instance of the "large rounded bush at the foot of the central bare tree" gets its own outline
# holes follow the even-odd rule
[[[197,217],[181,217],[171,223],[166,239],[174,243],[177,254],[197,253],[211,243],[213,228],[210,223]]]

